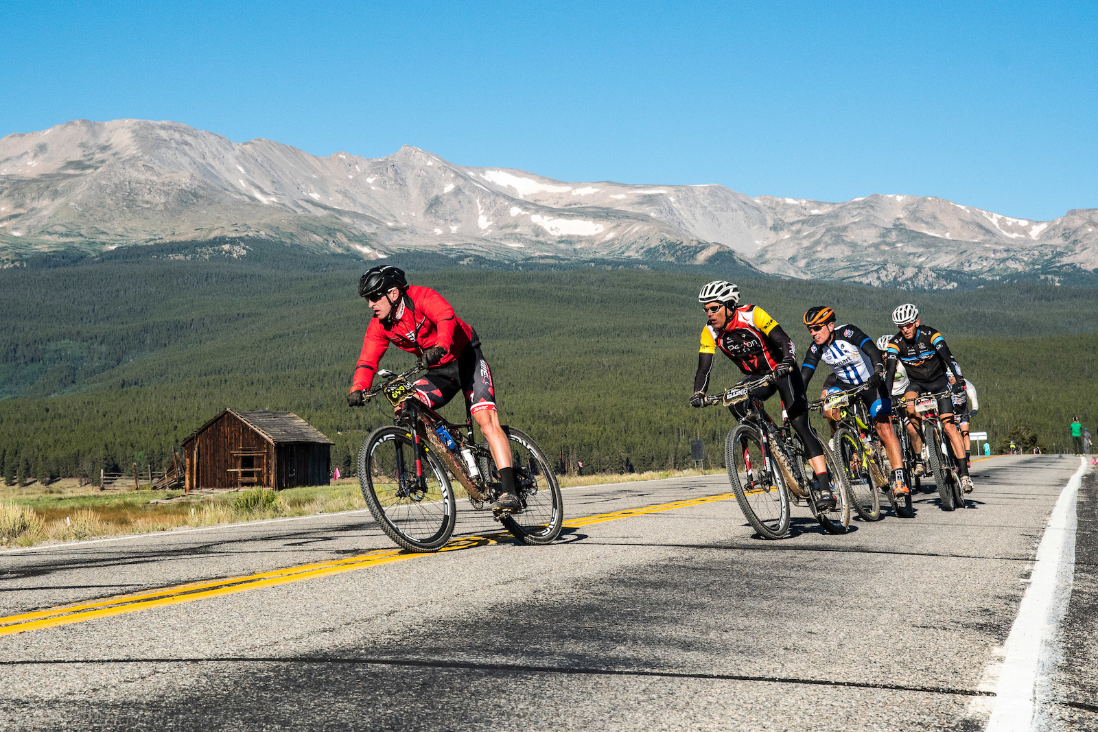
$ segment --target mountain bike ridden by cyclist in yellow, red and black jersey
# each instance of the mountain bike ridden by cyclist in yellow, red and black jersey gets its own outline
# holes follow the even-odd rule
[[[797,504],[806,500],[813,516],[828,533],[844,533],[850,526],[850,486],[827,442],[824,458],[831,476],[836,506],[820,509],[808,487],[807,458],[800,438],[788,420],[778,427],[762,402],[752,393],[774,383],[774,375],[739,384],[720,394],[707,396],[703,405],[726,407],[743,405],[743,417],[725,439],[725,464],[728,482],[740,510],[764,539],[781,539],[789,532],[789,494]],[[814,430],[815,433],[815,430]],[[819,435],[817,435],[819,439]]]

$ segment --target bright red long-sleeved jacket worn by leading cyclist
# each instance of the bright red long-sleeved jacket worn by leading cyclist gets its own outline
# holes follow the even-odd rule
[[[396,344],[397,348],[416,356],[422,356],[425,348],[440,346],[446,353],[436,365],[442,365],[461,356],[472,338],[472,326],[453,314],[446,299],[430,288],[411,285],[407,296],[396,306],[392,327],[385,327],[377,318],[367,326],[350,391],[370,388],[378,362],[389,344]]]

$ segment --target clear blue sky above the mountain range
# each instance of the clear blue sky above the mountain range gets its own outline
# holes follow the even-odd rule
[[[1098,207],[1095,2],[0,3],[0,135],[233,140],[564,180]]]

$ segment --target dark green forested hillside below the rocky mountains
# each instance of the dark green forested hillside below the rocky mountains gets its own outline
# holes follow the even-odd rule
[[[210,416],[232,406],[296,412],[349,461],[384,409],[345,406],[368,311],[360,264],[316,257],[287,267],[214,256],[120,258],[0,271],[0,449],[55,474],[96,465],[160,464]],[[550,455],[597,470],[683,464],[688,441],[709,454],[730,427],[718,409],[686,406],[704,319],[694,300],[706,271],[585,268],[439,270],[438,288],[478,329],[505,421],[529,428]],[[830,303],[877,335],[910,295],[853,285],[740,280],[799,344],[800,313]],[[1067,286],[1011,285],[926,293],[925,320],[946,335],[979,388],[974,429],[993,440],[1021,423],[1055,448],[1076,413],[1098,416],[1093,354],[1098,297]],[[410,362],[395,351],[390,368]],[[715,387],[737,376],[718,365]],[[814,384],[818,386],[818,384]],[[451,406],[457,417],[460,406]],[[21,459],[21,458],[20,458]],[[10,461],[9,461],[10,462]]]

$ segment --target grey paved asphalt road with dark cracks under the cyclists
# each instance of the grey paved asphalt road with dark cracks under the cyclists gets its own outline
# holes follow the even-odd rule
[[[480,539],[411,559],[365,513],[0,553],[9,618],[153,597],[0,635],[0,729],[978,730],[1078,465],[995,458],[967,510],[922,494],[914,519],[831,537],[795,509],[780,542],[704,477],[568,489],[569,518],[691,505],[546,548],[463,511]],[[1050,729],[1098,729],[1093,474],[1078,507]]]

